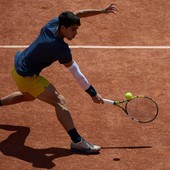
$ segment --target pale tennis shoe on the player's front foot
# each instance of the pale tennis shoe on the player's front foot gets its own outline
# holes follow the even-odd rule
[[[85,139],[81,139],[78,143],[71,143],[71,149],[78,152],[83,152],[87,154],[99,153],[101,147],[97,145],[92,145]]]

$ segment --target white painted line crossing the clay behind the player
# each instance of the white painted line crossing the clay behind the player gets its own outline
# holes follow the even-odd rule
[[[27,48],[28,45],[0,45],[0,48]],[[70,45],[70,48],[86,49],[170,49],[170,46],[97,46],[97,45]]]

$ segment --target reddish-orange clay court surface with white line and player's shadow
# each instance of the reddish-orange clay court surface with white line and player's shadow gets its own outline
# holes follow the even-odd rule
[[[46,22],[62,11],[102,8],[110,2],[0,0],[0,97],[17,90],[11,77],[14,55],[32,43]],[[139,124],[117,107],[94,104],[56,62],[42,75],[65,96],[77,129],[102,147],[100,154],[71,152],[54,108],[35,100],[0,108],[1,170],[170,169],[170,2],[114,2],[117,15],[82,19],[77,37],[67,42],[103,98],[122,100],[127,91],[150,96],[159,105],[157,119]]]

